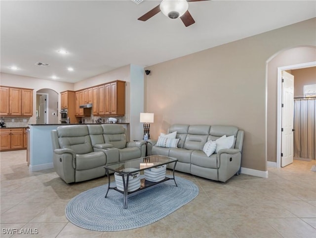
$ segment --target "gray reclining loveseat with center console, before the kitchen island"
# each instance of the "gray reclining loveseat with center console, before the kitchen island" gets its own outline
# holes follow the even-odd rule
[[[65,125],[51,131],[53,164],[66,182],[105,175],[108,163],[145,157],[146,142],[127,142],[119,124]]]

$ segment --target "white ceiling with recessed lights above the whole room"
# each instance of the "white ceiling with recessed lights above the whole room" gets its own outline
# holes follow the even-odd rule
[[[1,0],[1,72],[40,79],[56,75],[57,80],[76,82],[128,64],[150,66],[316,17],[315,0],[209,0],[189,3],[196,21],[189,27],[161,12],[146,22],[137,20],[159,2]],[[60,55],[61,48],[69,53]],[[12,71],[12,65],[18,70]],[[75,71],[68,72],[67,67]]]

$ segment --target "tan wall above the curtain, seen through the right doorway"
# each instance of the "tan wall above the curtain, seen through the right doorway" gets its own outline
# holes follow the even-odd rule
[[[304,85],[316,84],[316,67],[292,70],[292,75],[294,76],[294,97],[304,97]]]

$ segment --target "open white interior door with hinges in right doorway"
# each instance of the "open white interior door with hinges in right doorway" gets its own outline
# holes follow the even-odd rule
[[[281,167],[293,163],[294,76],[282,71]]]

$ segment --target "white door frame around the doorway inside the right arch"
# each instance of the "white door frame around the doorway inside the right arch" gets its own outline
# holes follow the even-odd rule
[[[285,70],[297,70],[315,67],[316,61],[297,64],[297,65],[288,65],[277,68],[277,121],[276,121],[276,167],[281,168],[281,127],[282,127],[282,71]],[[295,82],[295,78],[294,78]]]

